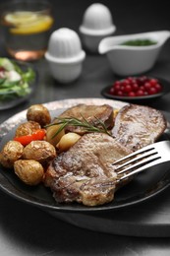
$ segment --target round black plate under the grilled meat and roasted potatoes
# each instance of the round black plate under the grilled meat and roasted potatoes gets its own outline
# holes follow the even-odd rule
[[[71,99],[70,99],[71,100]],[[62,101],[62,100],[61,100]],[[63,100],[64,101],[64,100]],[[75,102],[75,103],[74,103]],[[80,103],[80,102],[89,102],[90,99],[85,98],[82,101],[79,99],[73,100],[72,104]],[[110,103],[117,107],[116,101],[108,100],[108,99],[95,99],[92,103]],[[123,103],[123,102],[122,102]],[[124,103],[122,104],[124,105]],[[48,104],[47,104],[48,106]],[[50,105],[49,105],[50,106]],[[70,105],[69,105],[70,106]],[[56,101],[56,104],[52,104],[52,109],[57,109],[51,111],[52,116],[56,116],[61,113],[64,109],[60,108],[61,102]],[[165,113],[166,117],[170,121],[170,115]],[[6,129],[10,129],[9,133],[3,136],[3,139],[0,142],[0,150],[4,146],[4,144],[14,137],[15,133],[15,125],[17,122],[25,121],[26,111],[15,115],[14,117],[7,120],[5,123],[1,125],[1,133]],[[10,128],[9,128],[10,127]],[[1,134],[2,137],[2,134]],[[164,134],[162,139],[167,139],[167,135]],[[101,211],[111,211],[115,209],[121,209],[128,206],[132,206],[143,202],[156,194],[163,191],[170,184],[170,167],[169,164],[158,165],[154,168],[148,169],[141,174],[139,174],[132,182],[130,182],[125,187],[119,189],[115,193],[115,199],[113,202],[97,207],[85,207],[81,204],[58,204],[52,198],[51,191],[44,187],[42,184],[36,187],[29,187],[25,185],[22,181],[18,179],[18,177],[14,174],[13,170],[6,169],[0,166],[0,188],[10,196],[28,203],[30,205],[37,206],[42,210],[54,211],[57,212],[101,212]]]

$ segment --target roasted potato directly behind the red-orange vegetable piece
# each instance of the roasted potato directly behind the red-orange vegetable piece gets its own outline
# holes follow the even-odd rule
[[[32,134],[38,129],[41,129],[41,127],[40,127],[40,124],[37,122],[28,121],[28,122],[22,123],[16,129],[16,137]]]

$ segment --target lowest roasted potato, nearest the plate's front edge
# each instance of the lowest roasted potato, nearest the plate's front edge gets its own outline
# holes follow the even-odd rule
[[[39,184],[44,175],[42,165],[36,160],[17,160],[14,171],[22,181],[31,186]]]

